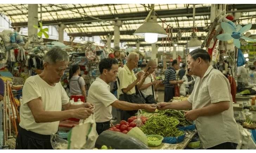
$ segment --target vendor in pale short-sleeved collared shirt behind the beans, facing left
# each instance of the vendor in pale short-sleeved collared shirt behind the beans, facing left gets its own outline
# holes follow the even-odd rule
[[[234,119],[232,95],[228,79],[210,65],[211,57],[204,49],[187,56],[188,68],[198,76],[187,100],[158,103],[161,108],[186,110],[185,117],[195,121],[200,141],[206,149],[236,149],[239,130]]]

